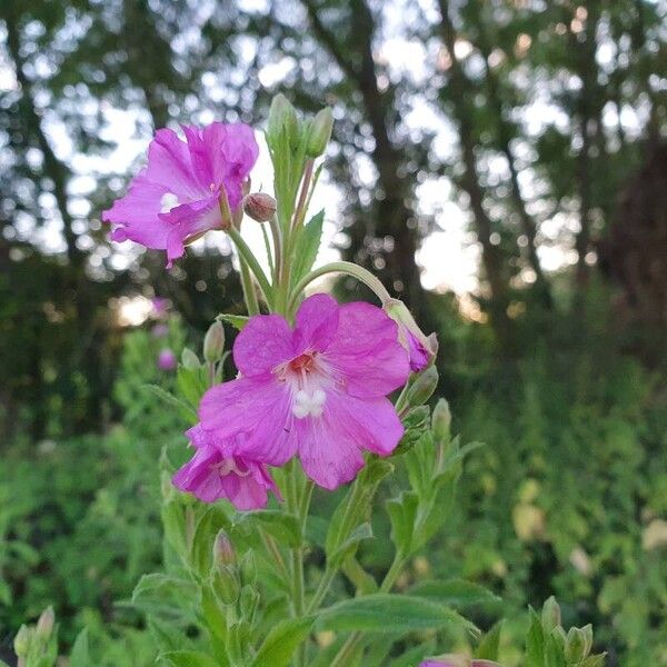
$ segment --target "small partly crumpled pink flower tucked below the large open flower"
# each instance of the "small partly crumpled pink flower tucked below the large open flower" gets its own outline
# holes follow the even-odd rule
[[[200,425],[186,435],[197,451],[173,476],[173,485],[181,491],[205,502],[227,498],[241,510],[265,507],[269,490],[278,495],[266,467],[237,455],[235,440],[217,440]]]

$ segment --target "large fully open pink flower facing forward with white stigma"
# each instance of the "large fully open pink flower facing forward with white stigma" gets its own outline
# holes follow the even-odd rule
[[[278,315],[250,319],[233,346],[241,377],[201,400],[205,429],[246,434],[239,451],[281,466],[296,454],[306,474],[334,489],[364,466],[362,451],[394,451],[402,426],[387,395],[409,375],[397,325],[370,303],[303,301],[290,328]]]

